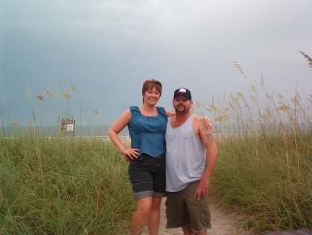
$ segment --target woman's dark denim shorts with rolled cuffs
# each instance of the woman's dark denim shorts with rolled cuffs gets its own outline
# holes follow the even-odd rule
[[[166,197],[166,153],[157,157],[141,153],[129,162],[128,173],[135,198]]]

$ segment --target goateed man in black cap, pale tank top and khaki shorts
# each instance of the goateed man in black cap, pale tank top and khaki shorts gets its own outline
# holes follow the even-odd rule
[[[167,228],[203,235],[211,228],[207,189],[218,148],[202,117],[191,114],[192,105],[189,89],[175,90],[176,115],[168,118],[165,134]]]

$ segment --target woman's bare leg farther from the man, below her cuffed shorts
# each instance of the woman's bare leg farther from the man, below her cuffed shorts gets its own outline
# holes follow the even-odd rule
[[[151,213],[152,201],[152,197],[137,199],[137,211],[132,218],[131,235],[140,235],[143,232]]]

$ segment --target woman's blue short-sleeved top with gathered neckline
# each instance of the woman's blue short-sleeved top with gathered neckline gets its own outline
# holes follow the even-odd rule
[[[147,153],[152,157],[166,152],[164,134],[167,128],[166,110],[156,107],[157,116],[144,116],[139,107],[131,106],[131,119],[128,123],[131,148],[139,148],[139,153]]]

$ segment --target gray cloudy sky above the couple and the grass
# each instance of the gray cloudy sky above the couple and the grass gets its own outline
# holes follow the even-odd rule
[[[312,69],[299,51],[312,56],[311,12],[311,0],[2,0],[4,122],[31,124],[26,81],[44,123],[35,96],[48,98],[44,87],[56,94],[56,85],[83,102],[92,122],[107,125],[141,105],[141,85],[150,78],[162,82],[159,106],[167,109],[179,87],[205,105],[213,94],[248,95],[232,61],[250,85],[259,88],[262,75],[269,93],[290,100],[297,89],[304,98],[312,93]],[[64,97],[59,102],[66,106]],[[80,123],[81,105],[69,104]],[[43,105],[53,110],[48,100]]]

